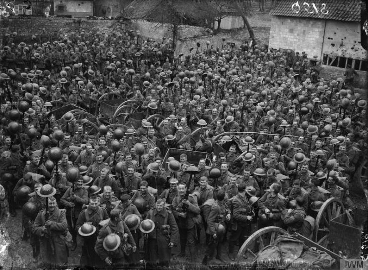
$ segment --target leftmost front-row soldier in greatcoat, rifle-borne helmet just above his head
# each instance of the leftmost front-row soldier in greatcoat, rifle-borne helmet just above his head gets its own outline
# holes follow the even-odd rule
[[[68,264],[68,251],[64,240],[67,228],[65,211],[58,208],[55,197],[49,197],[47,209],[37,214],[32,226],[32,233],[40,238],[40,259],[43,264]]]

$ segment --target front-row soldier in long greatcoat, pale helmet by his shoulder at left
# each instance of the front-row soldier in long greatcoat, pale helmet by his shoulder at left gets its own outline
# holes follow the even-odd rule
[[[178,225],[172,212],[165,207],[165,201],[158,199],[156,208],[149,210],[146,219],[151,219],[155,228],[148,235],[149,261],[153,265],[168,267],[171,248],[178,237]]]

